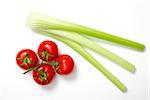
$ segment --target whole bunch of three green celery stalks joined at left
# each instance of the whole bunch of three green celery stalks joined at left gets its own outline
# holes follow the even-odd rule
[[[114,36],[105,32],[101,32],[92,28],[81,26],[78,24],[66,22],[60,19],[52,18],[46,15],[32,13],[27,21],[27,27],[33,31],[55,38],[78,52],[87,61],[89,61],[94,67],[96,67],[104,76],[106,76],[116,87],[122,92],[126,92],[126,86],[120,82],[111,72],[103,67],[92,55],[90,55],[84,47],[88,47],[91,50],[107,57],[115,63],[121,65],[123,68],[130,72],[135,71],[134,65],[130,64],[123,58],[113,54],[107,49],[97,45],[95,42],[87,39],[81,35],[88,35],[99,39],[108,40],[113,43],[117,43],[123,46],[127,46],[132,49],[144,51],[145,46],[141,43],[137,43],[128,39],[124,39],[118,36]],[[66,31],[66,32],[62,32]],[[55,70],[56,71],[56,70]]]

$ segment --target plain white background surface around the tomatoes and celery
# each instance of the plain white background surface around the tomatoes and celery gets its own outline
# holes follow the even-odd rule
[[[149,0],[0,0],[0,98],[2,99],[148,99],[148,55],[150,55]],[[59,41],[35,34],[25,27],[31,11],[93,27],[141,42],[145,52],[138,52],[94,39],[136,66],[134,74],[90,51],[128,88],[120,92],[79,54]],[[53,40],[60,52],[73,57],[76,66],[68,76],[57,75],[45,87],[37,85],[30,74],[23,75],[15,62],[23,48],[37,50],[43,40]]]

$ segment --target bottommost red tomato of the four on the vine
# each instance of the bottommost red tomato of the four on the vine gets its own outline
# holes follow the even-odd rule
[[[47,64],[42,64],[40,65],[39,68],[33,70],[32,75],[36,83],[40,85],[47,85],[52,81],[55,72],[52,66]]]

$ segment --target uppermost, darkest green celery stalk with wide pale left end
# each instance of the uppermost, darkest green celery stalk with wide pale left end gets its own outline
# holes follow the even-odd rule
[[[143,51],[145,46],[143,44],[124,39],[115,35],[111,35],[102,31],[98,31],[92,28],[74,24],[71,22],[66,22],[60,19],[56,19],[50,16],[32,13],[29,16],[27,26],[32,29],[54,29],[54,30],[63,30],[77,32],[80,34],[108,40],[110,42],[118,43],[136,50]]]

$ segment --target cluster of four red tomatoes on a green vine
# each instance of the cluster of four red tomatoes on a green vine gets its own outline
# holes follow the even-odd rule
[[[72,57],[66,54],[58,55],[56,43],[48,40],[40,43],[37,54],[30,49],[19,51],[16,62],[20,68],[26,70],[25,73],[32,71],[34,81],[40,85],[49,84],[55,73],[69,74],[74,67]]]

